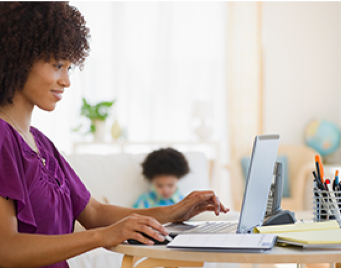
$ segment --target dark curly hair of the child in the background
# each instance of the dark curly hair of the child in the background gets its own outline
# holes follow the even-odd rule
[[[174,175],[182,178],[190,172],[185,155],[173,148],[162,148],[149,153],[142,165],[142,174],[149,181],[155,176]]]

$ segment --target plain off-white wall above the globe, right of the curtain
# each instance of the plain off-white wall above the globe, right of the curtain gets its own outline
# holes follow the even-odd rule
[[[264,132],[302,143],[313,118],[341,125],[339,2],[263,2]]]

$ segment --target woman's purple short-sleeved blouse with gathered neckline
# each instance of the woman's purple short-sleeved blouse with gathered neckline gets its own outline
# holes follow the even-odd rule
[[[0,119],[0,195],[15,200],[18,231],[65,234],[90,199],[90,192],[55,145],[31,127],[40,157]],[[66,260],[47,267],[68,267]]]

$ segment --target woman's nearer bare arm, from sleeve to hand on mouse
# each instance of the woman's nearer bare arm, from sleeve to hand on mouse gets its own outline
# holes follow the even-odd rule
[[[115,246],[128,238],[153,243],[137,231],[162,241],[163,237],[148,226],[165,234],[165,229],[155,219],[134,213],[107,227],[77,233],[19,233],[14,201],[0,196],[0,211],[0,267],[6,268],[45,266],[96,247]]]

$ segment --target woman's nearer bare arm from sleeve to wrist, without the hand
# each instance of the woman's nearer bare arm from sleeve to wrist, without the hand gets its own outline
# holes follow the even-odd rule
[[[98,230],[63,235],[19,233],[12,199],[0,196],[0,211],[0,267],[44,266],[100,245]]]

